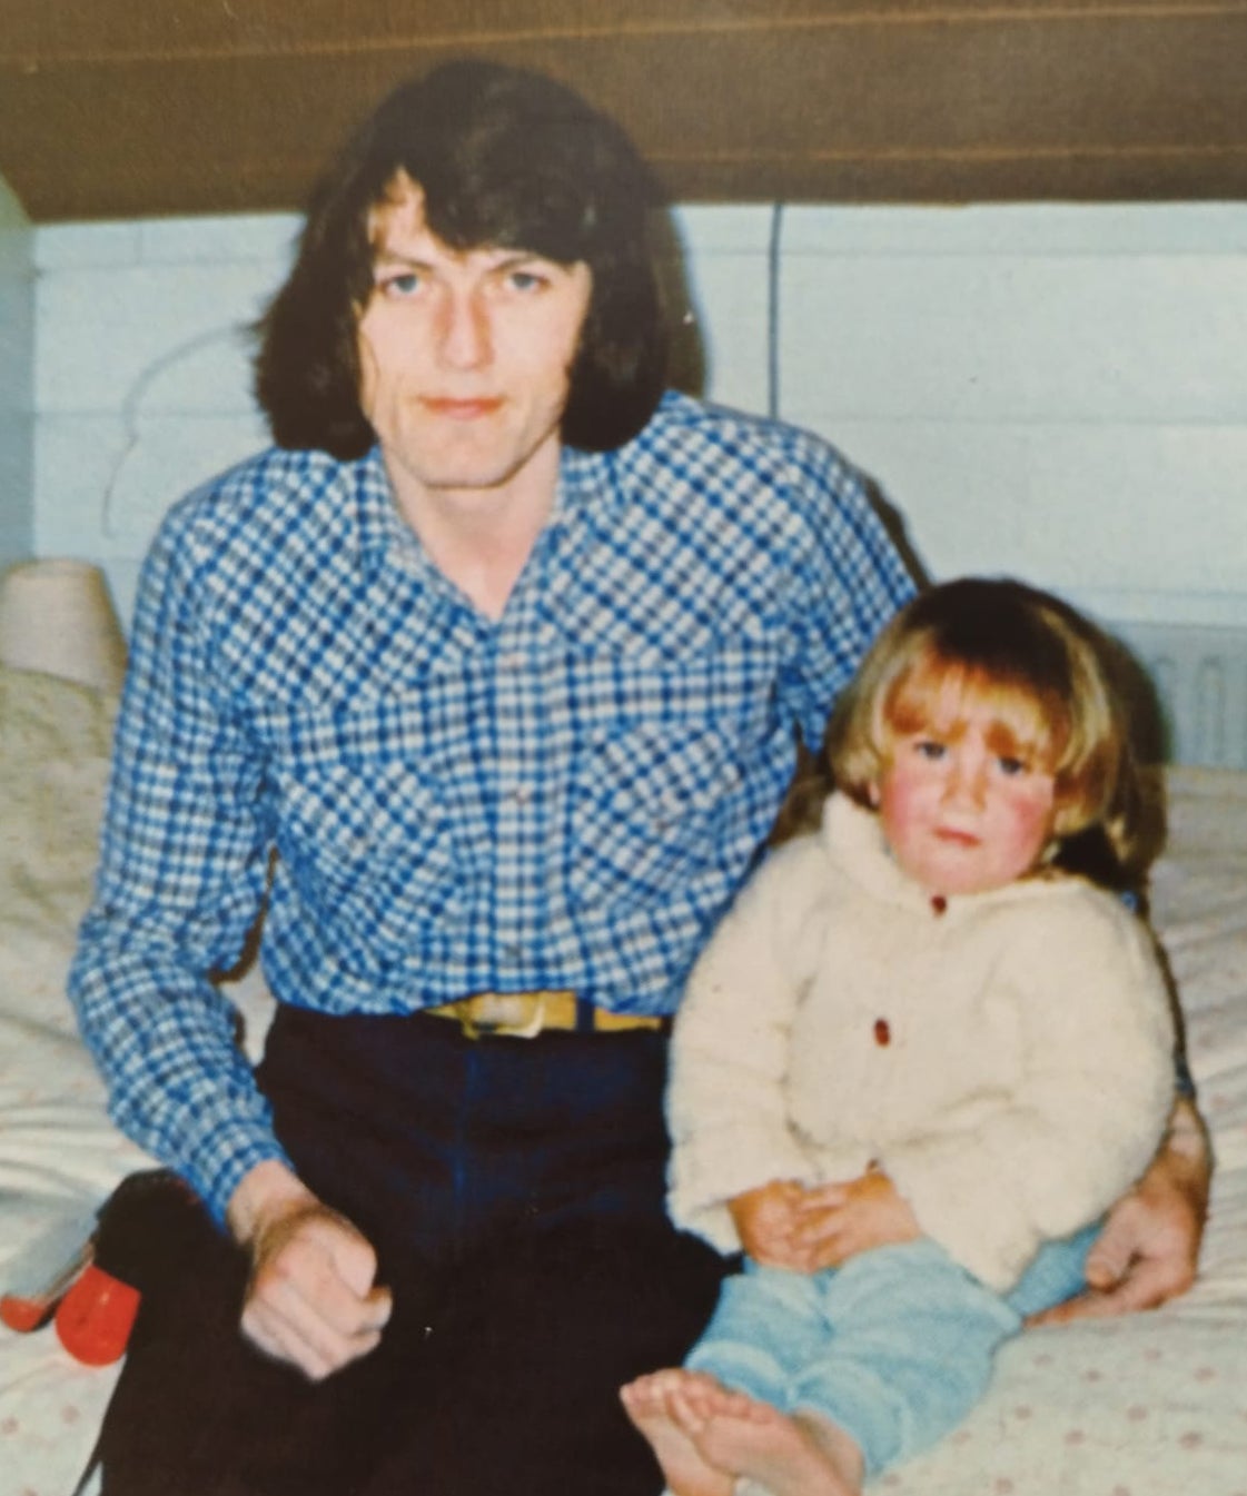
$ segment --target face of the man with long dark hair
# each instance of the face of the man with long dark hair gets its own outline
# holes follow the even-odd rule
[[[522,250],[451,250],[425,224],[419,187],[397,187],[371,221],[361,407],[400,501],[506,489],[557,459],[588,268]]]

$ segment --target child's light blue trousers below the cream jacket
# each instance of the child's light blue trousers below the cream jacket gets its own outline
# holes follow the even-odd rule
[[[1097,1231],[1043,1246],[1007,1299],[927,1239],[810,1275],[748,1263],[686,1364],[783,1412],[829,1418],[877,1475],[966,1417],[1025,1315],[1084,1287]]]

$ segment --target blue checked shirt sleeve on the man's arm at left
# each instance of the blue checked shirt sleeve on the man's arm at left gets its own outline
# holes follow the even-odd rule
[[[114,1121],[217,1219],[243,1174],[281,1158],[211,974],[240,957],[268,868],[259,761],[231,712],[187,507],[139,585],[91,908],[69,975]]]

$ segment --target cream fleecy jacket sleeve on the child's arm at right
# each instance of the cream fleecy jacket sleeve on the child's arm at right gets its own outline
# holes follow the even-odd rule
[[[1013,1013],[1021,1080],[882,1164],[925,1234],[1007,1288],[1042,1240],[1096,1219],[1147,1168],[1172,1104],[1172,1017],[1142,926],[1096,896],[1019,931],[993,1001]]]

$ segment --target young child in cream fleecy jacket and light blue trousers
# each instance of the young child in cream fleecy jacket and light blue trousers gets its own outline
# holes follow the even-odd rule
[[[675,1496],[859,1492],[1082,1287],[1174,1097],[1148,935],[1060,868],[1084,833],[1138,859],[1124,715],[1090,625],[975,579],[898,615],[840,703],[820,830],[675,1025],[671,1212],[747,1254],[686,1366],[621,1393]]]

